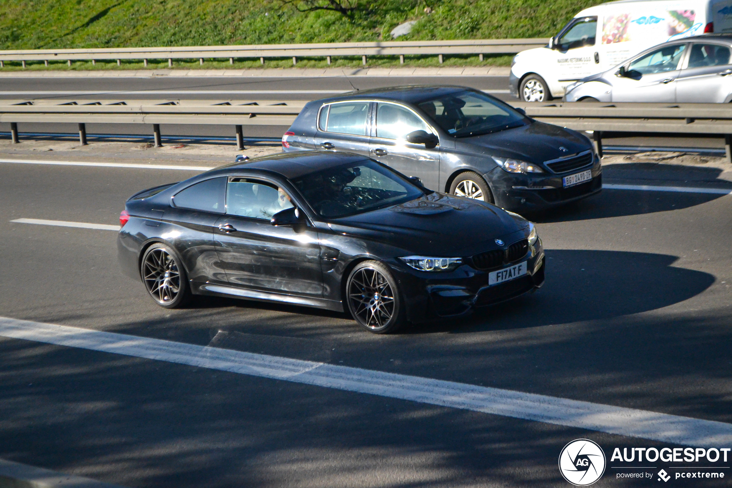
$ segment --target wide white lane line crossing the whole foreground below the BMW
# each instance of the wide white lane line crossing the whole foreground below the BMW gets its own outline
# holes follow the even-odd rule
[[[732,443],[732,424],[633,408],[0,317],[0,336],[681,444]]]

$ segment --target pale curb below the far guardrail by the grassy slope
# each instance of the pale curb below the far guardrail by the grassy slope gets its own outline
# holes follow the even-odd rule
[[[341,76],[508,76],[507,66],[452,67],[452,68],[366,68],[316,69],[280,68],[274,70],[99,70],[99,71],[11,71],[1,72],[0,78],[206,78],[206,77],[257,77],[257,78],[321,78]]]

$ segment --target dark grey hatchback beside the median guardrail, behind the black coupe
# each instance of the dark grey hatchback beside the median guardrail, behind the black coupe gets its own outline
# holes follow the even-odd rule
[[[427,188],[514,211],[602,189],[600,159],[584,135],[463,86],[398,86],[315,100],[282,141],[283,151],[369,156]]]

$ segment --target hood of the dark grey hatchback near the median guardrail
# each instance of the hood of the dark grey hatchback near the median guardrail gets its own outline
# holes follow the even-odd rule
[[[515,129],[455,139],[455,149],[540,163],[587,151],[592,146],[578,132],[534,121]]]

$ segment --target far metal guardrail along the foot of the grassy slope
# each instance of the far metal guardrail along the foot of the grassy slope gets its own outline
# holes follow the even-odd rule
[[[477,39],[452,41],[389,41],[389,42],[331,42],[321,44],[262,44],[231,46],[190,46],[176,48],[99,48],[99,49],[29,49],[0,51],[0,63],[4,61],[48,61],[63,60],[104,60],[115,59],[117,64],[122,59],[203,59],[228,58],[234,64],[236,58],[259,58],[264,64],[265,58],[292,57],[296,63],[298,57],[326,57],[330,64],[331,56],[362,56],[366,64],[366,56],[400,56],[404,62],[405,55],[438,55],[447,54],[512,54],[522,50],[540,48],[547,45],[548,38],[535,39]]]

